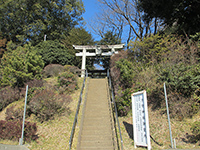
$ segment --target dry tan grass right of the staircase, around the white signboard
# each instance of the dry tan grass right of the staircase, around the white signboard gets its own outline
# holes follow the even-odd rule
[[[126,117],[120,117],[120,127],[122,130],[122,138],[124,143],[124,150],[134,149],[134,142],[132,139],[132,114],[129,113]],[[200,141],[197,143],[189,142],[188,137],[191,133],[191,123],[200,121],[200,113],[193,116],[193,118],[178,121],[171,119],[172,137],[175,138],[176,148],[179,149],[200,149]],[[161,114],[161,111],[152,111],[149,107],[149,123],[152,149],[170,149],[171,141],[169,135],[169,125],[166,114]],[[138,147],[137,150],[145,148]]]

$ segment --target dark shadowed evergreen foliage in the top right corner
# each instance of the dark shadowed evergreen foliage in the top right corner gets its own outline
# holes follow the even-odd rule
[[[140,8],[147,18],[160,18],[185,35],[200,32],[199,0],[140,0]]]

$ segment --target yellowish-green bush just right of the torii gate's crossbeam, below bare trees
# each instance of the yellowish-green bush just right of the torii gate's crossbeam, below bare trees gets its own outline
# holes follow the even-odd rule
[[[129,60],[141,62],[143,65],[159,63],[162,55],[169,51],[167,45],[174,42],[171,36],[159,35],[145,37],[142,41],[131,41]]]

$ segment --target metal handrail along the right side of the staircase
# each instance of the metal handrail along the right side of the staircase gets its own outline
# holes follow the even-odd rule
[[[118,113],[117,113],[117,106],[116,106],[116,103],[115,103],[115,96],[114,96],[114,92],[113,92],[113,87],[112,87],[112,82],[111,82],[111,76],[110,76],[110,73],[109,73],[109,69],[107,70],[107,77],[108,77],[108,84],[110,86],[110,90],[111,90],[111,94],[112,94],[112,103],[114,103],[114,107],[115,107],[115,117],[116,117],[116,120],[117,120],[117,124],[118,124],[118,129],[119,129],[119,134],[120,134],[120,140],[121,140],[121,150],[123,150],[123,140],[122,140],[122,134],[121,134],[121,129],[120,129],[120,125],[119,125],[119,119],[118,119]]]

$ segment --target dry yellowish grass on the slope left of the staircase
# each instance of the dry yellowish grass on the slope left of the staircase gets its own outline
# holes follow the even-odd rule
[[[56,82],[54,79],[49,79],[47,82],[49,84],[55,84]],[[79,99],[80,90],[82,87],[83,79],[79,79],[79,89],[73,93],[72,99],[73,101],[69,104],[70,107],[70,114],[64,113],[62,116],[56,116],[54,120],[46,121],[40,123],[37,121],[36,117],[32,115],[30,118],[27,118],[27,121],[36,122],[38,127],[37,136],[38,139],[36,141],[32,141],[31,143],[26,143],[27,147],[31,150],[66,150],[69,148],[69,139],[72,130],[72,125],[74,121],[75,111],[77,107],[77,102]],[[22,101],[23,102],[23,101]],[[15,102],[15,104],[21,105],[21,101]],[[13,105],[13,104],[11,104]],[[8,106],[10,107],[10,105]],[[8,108],[7,107],[7,108]],[[1,112],[1,119],[5,119],[5,111]],[[80,111],[81,112],[81,111]],[[78,129],[78,128],[77,128]],[[76,148],[77,137],[78,137],[78,130],[76,130],[75,137],[74,137],[74,144],[73,147]],[[9,144],[9,145],[18,145],[18,142],[9,141],[9,140],[0,140],[1,144]]]

